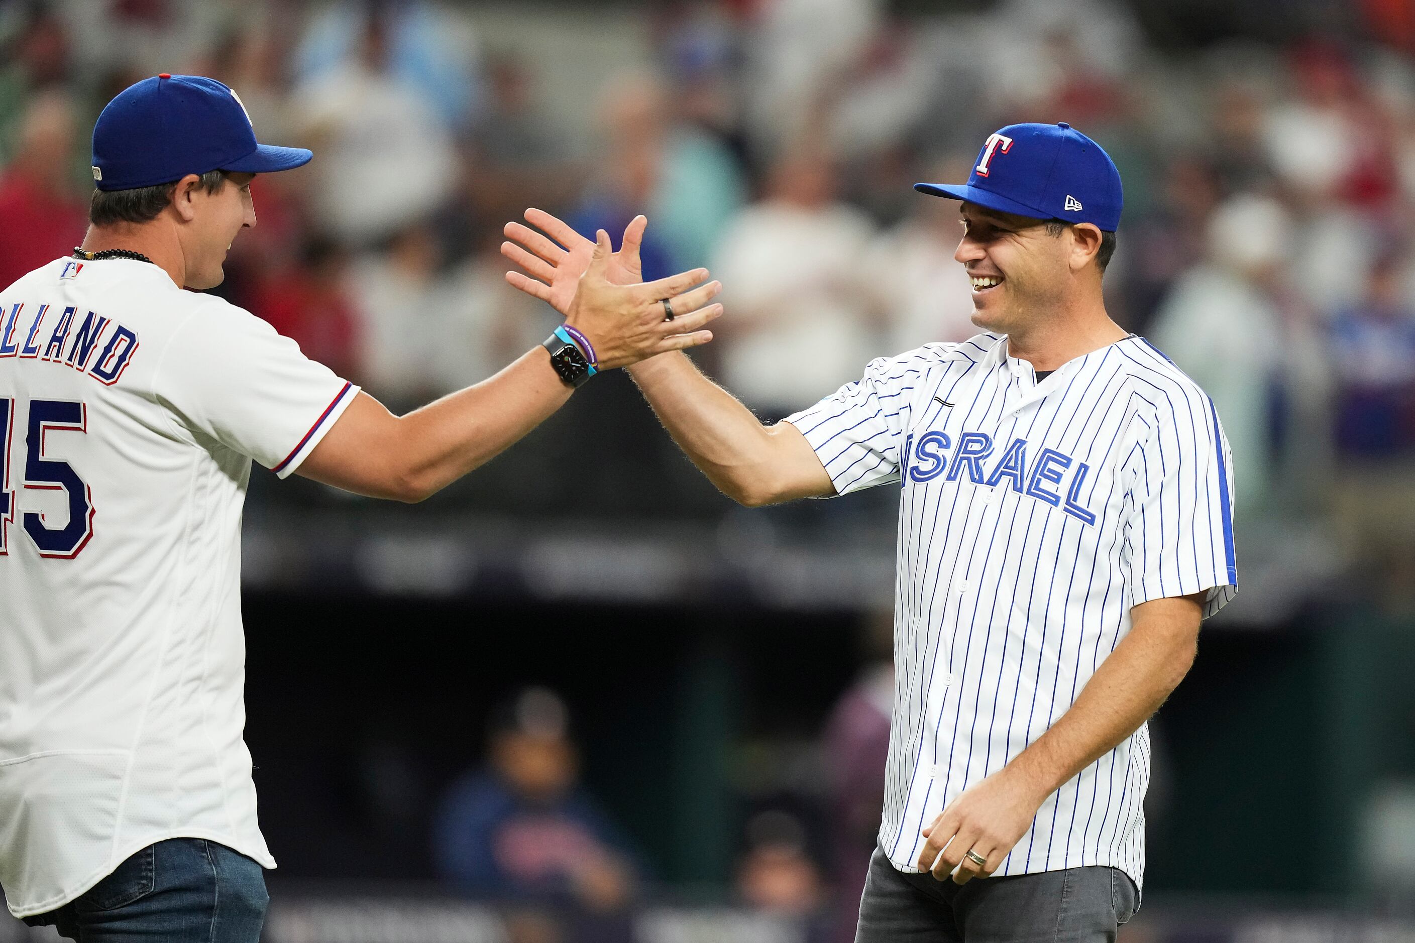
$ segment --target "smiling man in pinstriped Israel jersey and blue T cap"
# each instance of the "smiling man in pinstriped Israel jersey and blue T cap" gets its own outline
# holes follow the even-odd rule
[[[631,373],[744,505],[901,489],[884,814],[856,939],[1112,940],[1145,865],[1146,718],[1237,588],[1228,445],[1203,390],[1105,312],[1122,197],[1095,141],[1013,124],[966,184],[917,189],[962,201],[978,336],[874,361],[771,427],[682,355]],[[583,256],[559,221],[528,219]],[[507,233],[536,276],[512,284],[566,310],[580,269]]]

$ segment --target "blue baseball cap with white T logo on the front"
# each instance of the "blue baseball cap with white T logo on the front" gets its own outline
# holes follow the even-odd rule
[[[914,189],[1019,216],[1088,222],[1102,232],[1115,232],[1125,202],[1115,161],[1065,122],[1009,124],[988,136],[966,184]]]

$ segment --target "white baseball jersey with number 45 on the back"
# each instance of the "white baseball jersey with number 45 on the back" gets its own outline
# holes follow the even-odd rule
[[[0,885],[16,916],[134,851],[275,867],[242,741],[241,510],[355,389],[157,266],[59,259],[0,291]]]

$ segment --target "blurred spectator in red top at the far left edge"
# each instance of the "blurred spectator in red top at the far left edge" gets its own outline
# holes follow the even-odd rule
[[[0,174],[0,286],[83,242],[88,209],[75,187],[74,107],[68,95],[30,99],[14,160]]]

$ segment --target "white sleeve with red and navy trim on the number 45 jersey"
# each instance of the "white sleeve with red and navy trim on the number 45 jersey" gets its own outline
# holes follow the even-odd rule
[[[358,387],[253,314],[214,301],[174,332],[153,393],[178,426],[286,478],[333,428]]]

